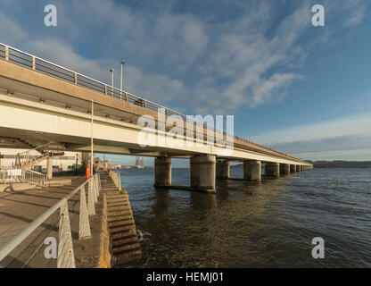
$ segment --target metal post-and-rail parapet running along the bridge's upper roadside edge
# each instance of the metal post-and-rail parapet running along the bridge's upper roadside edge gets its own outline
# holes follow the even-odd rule
[[[250,139],[245,139],[235,134],[227,133],[226,130],[220,130],[218,128],[208,126],[207,123],[205,122],[198,121],[198,120],[190,120],[189,116],[185,114],[180,114],[175,110],[172,110],[165,106],[153,103],[152,101],[144,99],[143,97],[137,97],[125,90],[114,88],[111,85],[107,85],[101,81],[91,79],[83,74],[80,74],[76,71],[71,71],[58,64],[48,62],[35,55],[30,55],[28,53],[22,52],[21,50],[16,49],[12,46],[7,46],[7,45],[0,43],[0,59],[3,59],[11,63],[20,64],[21,66],[32,69],[34,71],[45,73],[49,76],[53,76],[54,78],[57,78],[60,80],[69,81],[70,83],[76,84],[80,87],[94,90],[106,96],[115,97],[117,99],[126,101],[133,105],[139,105],[139,106],[142,106],[144,108],[147,108],[147,109],[150,109],[156,112],[159,109],[163,109],[165,110],[165,114],[167,114],[168,116],[177,117],[177,119],[180,119],[183,122],[194,123],[194,125],[201,124],[204,129],[214,130],[215,132],[219,134],[223,134],[229,138],[237,139],[239,141],[242,141],[242,142],[257,146],[257,147],[262,147],[262,148],[265,148],[271,151],[275,151],[278,154],[287,156],[286,154],[277,152],[276,150],[273,150],[272,148],[259,145],[251,141]]]

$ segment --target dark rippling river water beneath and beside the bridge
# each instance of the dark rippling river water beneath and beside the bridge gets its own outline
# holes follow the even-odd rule
[[[371,267],[371,169],[217,181],[217,194],[154,189],[153,169],[120,172],[143,267]],[[189,185],[189,169],[173,169],[172,181]],[[315,237],[325,259],[311,256]]]

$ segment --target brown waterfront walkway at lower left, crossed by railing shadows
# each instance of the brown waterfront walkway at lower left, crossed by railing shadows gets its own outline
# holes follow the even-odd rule
[[[40,214],[43,214],[49,207],[54,206],[61,198],[66,197],[73,189],[76,189],[85,181],[85,177],[74,177],[70,185],[49,187],[48,189],[34,188],[27,190],[5,189],[0,192],[0,246],[34,221]],[[96,214],[90,218],[90,226],[93,231],[100,230],[100,204],[95,204]],[[95,235],[88,243],[78,241],[78,214],[79,195],[69,200],[70,223],[73,238],[73,246],[77,267],[91,266],[91,261],[96,245],[99,244],[99,235]],[[15,248],[11,255],[0,261],[2,267],[56,267],[56,259],[46,259],[44,251],[46,245],[44,240],[47,237],[58,239],[59,214],[51,215],[49,219],[38,227],[29,238],[24,240],[20,246]],[[98,232],[99,233],[99,232]],[[98,240],[98,241],[97,241]],[[87,240],[83,240],[87,241]],[[90,247],[91,246],[91,247]],[[84,249],[82,249],[84,248]]]

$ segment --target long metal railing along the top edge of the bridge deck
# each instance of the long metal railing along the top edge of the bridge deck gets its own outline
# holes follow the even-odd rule
[[[29,53],[23,52],[23,51],[21,51],[21,50],[19,50],[17,48],[12,47],[12,46],[8,46],[8,45],[5,45],[3,43],[0,43],[0,47],[1,46],[4,46],[4,50],[1,50],[0,49],[0,51],[3,51],[4,52],[4,56],[0,56],[0,59],[4,59],[5,61],[11,61],[11,62],[20,63],[19,61],[12,59],[11,56],[13,54],[9,52],[10,50],[12,50],[12,51],[15,51],[15,52],[17,52],[17,53],[19,53],[21,55],[29,56],[30,57],[30,60],[29,59],[26,59],[26,60],[29,63],[31,63],[31,66],[29,66],[29,64],[26,64],[26,63],[21,63],[21,64],[24,65],[24,66],[26,66],[26,67],[28,67],[28,68],[30,68],[30,69],[32,69],[32,70],[34,70],[34,71],[40,71],[40,72],[46,73],[48,75],[53,76],[54,78],[58,78],[58,79],[62,79],[62,80],[68,80],[69,82],[74,83],[74,84],[76,84],[78,86],[82,86],[84,88],[93,89],[96,92],[99,92],[101,94],[104,94],[105,96],[115,97],[117,99],[120,99],[120,100],[129,102],[129,103],[134,104],[134,105],[140,105],[140,106],[142,106],[144,108],[147,108],[147,109],[150,109],[150,110],[153,110],[153,108],[157,108],[158,110],[161,109],[161,108],[163,108],[166,111],[166,114],[168,116],[175,117],[173,115],[176,115],[176,117],[178,119],[182,120],[183,122],[189,122],[188,121],[189,116],[187,116],[185,114],[180,114],[177,111],[171,110],[171,109],[169,109],[169,108],[167,108],[167,107],[165,107],[163,105],[158,105],[156,103],[153,103],[150,100],[144,99],[143,97],[135,96],[135,95],[129,93],[128,91],[125,91],[125,90],[122,90],[122,89],[119,89],[119,88],[114,88],[114,87],[112,87],[109,84],[103,83],[102,81],[94,80],[92,78],[87,77],[86,75],[83,75],[81,73],[78,73],[77,71],[71,71],[70,69],[64,68],[61,65],[58,65],[56,63],[52,63],[52,62],[46,61],[46,60],[44,60],[42,58],[39,58],[39,57],[37,57],[35,55],[30,55]],[[17,55],[13,55],[13,56],[15,56],[17,58],[20,58],[20,56],[17,56]],[[45,65],[40,64],[38,62],[47,63],[47,64],[51,65],[51,67],[46,67]],[[65,74],[66,76],[69,76],[71,79],[66,79],[64,76],[55,74],[54,72],[51,72],[51,71],[46,71],[46,70],[39,69],[39,68],[37,68],[38,65],[44,66],[46,69],[50,69],[52,71],[53,70],[56,71],[54,68],[61,69],[62,71],[56,71],[56,72]],[[65,71],[70,72],[72,74],[71,75],[67,75],[65,73]],[[79,77],[82,77],[85,80],[78,79]],[[92,82],[87,82],[87,80],[91,80],[93,83]],[[86,84],[81,83],[80,81],[83,81]],[[91,85],[91,87],[90,86],[87,86],[87,85]],[[94,86],[96,88],[94,88]],[[102,88],[100,88],[100,86],[102,86]],[[202,122],[202,121],[198,121],[198,120],[193,120],[193,122],[191,122],[191,123],[194,123],[194,125],[197,125],[198,123],[201,123],[204,129],[210,129],[210,126],[208,126],[206,122]],[[242,141],[244,143],[248,143],[248,144],[251,144],[251,145],[257,146],[257,147],[262,147],[264,149],[267,149],[267,150],[276,152],[277,154],[281,154],[283,156],[287,156],[287,157],[293,158],[292,156],[288,156],[287,154],[284,154],[282,152],[278,152],[278,151],[276,151],[276,150],[274,150],[272,148],[262,146],[262,145],[257,144],[255,142],[249,140],[249,139],[245,139],[245,138],[240,137],[240,136],[237,136],[235,134],[227,133],[226,130],[220,130],[220,129],[214,128],[214,127],[212,127],[211,130],[214,130],[215,132],[218,132],[220,134],[224,134],[225,136],[227,136],[229,138],[237,139],[237,140]],[[293,158],[293,159],[298,160],[297,158]]]

